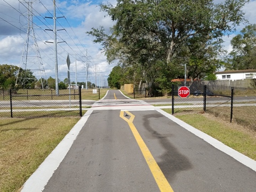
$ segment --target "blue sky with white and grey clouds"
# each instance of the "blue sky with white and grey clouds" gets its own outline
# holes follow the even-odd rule
[[[28,1],[28,0],[27,0]],[[46,76],[55,78],[54,69],[54,51],[53,44],[45,43],[45,41],[53,41],[53,32],[44,29],[53,29],[53,20],[44,17],[52,17],[53,1],[52,0],[30,0],[33,3],[34,31],[41,54]],[[20,3],[22,2],[22,3]],[[85,81],[85,56],[88,53],[89,81],[95,81],[95,68],[97,69],[97,81],[107,81],[107,77],[115,66],[115,63],[109,65],[106,61],[104,53],[99,51],[100,45],[92,42],[93,37],[85,34],[92,27],[98,28],[103,26],[106,29],[113,26],[113,22],[108,17],[104,17],[106,13],[100,12],[99,3],[107,3],[107,1],[85,1],[85,0],[56,0],[57,17],[65,16],[58,19],[57,29],[65,28],[58,31],[57,41],[65,41],[66,43],[58,44],[58,71],[59,79],[63,81],[67,77],[67,54],[70,56],[70,77],[71,81],[75,79],[75,61],[77,65],[77,81]],[[116,0],[108,1],[115,4]],[[215,0],[215,2],[223,2],[223,0]],[[26,40],[27,21],[26,9],[27,4],[23,0],[0,0],[0,65],[9,64],[21,66],[21,55],[24,50]],[[244,7],[245,17],[250,23],[256,23],[256,1],[250,1]],[[24,16],[22,16],[22,14]],[[241,30],[244,27],[237,27]],[[223,37],[226,49],[231,50],[229,37]],[[77,58],[77,59],[75,59]],[[29,67],[28,67],[29,68]],[[98,83],[97,83],[98,85]]]

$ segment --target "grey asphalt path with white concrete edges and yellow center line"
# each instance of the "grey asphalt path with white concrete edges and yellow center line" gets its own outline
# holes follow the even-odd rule
[[[118,90],[83,118],[22,191],[256,189],[255,161]]]

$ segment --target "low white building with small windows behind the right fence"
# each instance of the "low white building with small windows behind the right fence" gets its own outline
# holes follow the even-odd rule
[[[256,69],[217,71],[215,72],[215,75],[218,80],[244,80],[256,78]]]

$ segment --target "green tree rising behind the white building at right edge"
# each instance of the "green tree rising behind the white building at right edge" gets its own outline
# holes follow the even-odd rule
[[[232,38],[231,45],[226,69],[256,69],[256,24],[243,28],[241,34]]]

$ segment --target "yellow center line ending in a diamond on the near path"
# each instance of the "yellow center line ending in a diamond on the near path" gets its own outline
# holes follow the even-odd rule
[[[121,111],[120,113],[120,117],[122,119],[124,119],[124,121],[126,121],[128,123],[128,125],[130,126],[130,129],[134,135],[135,140],[137,141],[140,150],[149,166],[149,169],[151,171],[151,173],[153,174],[153,177],[155,178],[155,181],[160,189],[160,191],[164,192],[164,191],[168,191],[168,192],[173,192],[172,187],[170,186],[169,182],[167,181],[167,179],[165,178],[162,170],[160,169],[160,167],[158,166],[158,164],[156,163],[153,155],[151,155],[148,147],[146,146],[145,142],[142,140],[139,132],[137,131],[136,127],[133,124],[133,119],[134,119],[134,115],[131,114],[129,111],[125,111],[125,113],[127,113],[128,115],[130,115],[130,119],[127,119],[124,117],[124,111]]]

